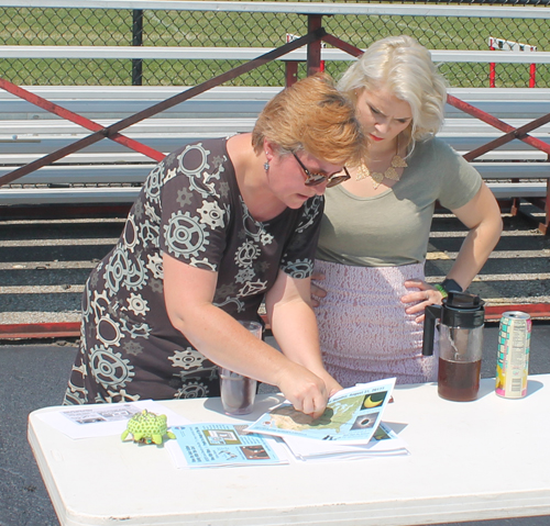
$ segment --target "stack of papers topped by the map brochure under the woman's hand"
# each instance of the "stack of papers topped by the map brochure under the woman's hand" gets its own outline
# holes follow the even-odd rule
[[[283,438],[300,460],[407,455],[405,443],[382,424],[394,385],[391,378],[343,389],[317,419],[283,403],[246,430]]]

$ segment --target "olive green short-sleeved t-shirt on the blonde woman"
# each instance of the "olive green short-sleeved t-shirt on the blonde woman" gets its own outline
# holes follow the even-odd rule
[[[447,143],[417,143],[393,188],[360,198],[341,184],[326,192],[316,257],[360,267],[422,262],[437,200],[455,210],[477,193],[477,170]]]

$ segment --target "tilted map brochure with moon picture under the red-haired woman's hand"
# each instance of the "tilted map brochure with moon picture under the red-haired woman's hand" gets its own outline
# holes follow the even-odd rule
[[[358,384],[330,398],[317,419],[283,403],[264,413],[246,430],[283,438],[301,437],[339,444],[369,444],[395,385],[395,378]]]

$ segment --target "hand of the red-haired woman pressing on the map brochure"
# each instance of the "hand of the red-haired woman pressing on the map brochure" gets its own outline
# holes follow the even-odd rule
[[[288,363],[277,387],[296,411],[314,419],[324,413],[329,399],[324,381],[299,363]]]

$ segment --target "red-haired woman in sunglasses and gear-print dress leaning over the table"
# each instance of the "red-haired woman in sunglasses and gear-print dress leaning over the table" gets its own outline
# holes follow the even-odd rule
[[[353,104],[316,76],[267,103],[252,133],[169,154],[88,279],[65,403],[219,395],[221,366],[320,415],[340,389],[309,305],[322,194],[363,149]],[[283,354],[237,322],[264,296]]]

